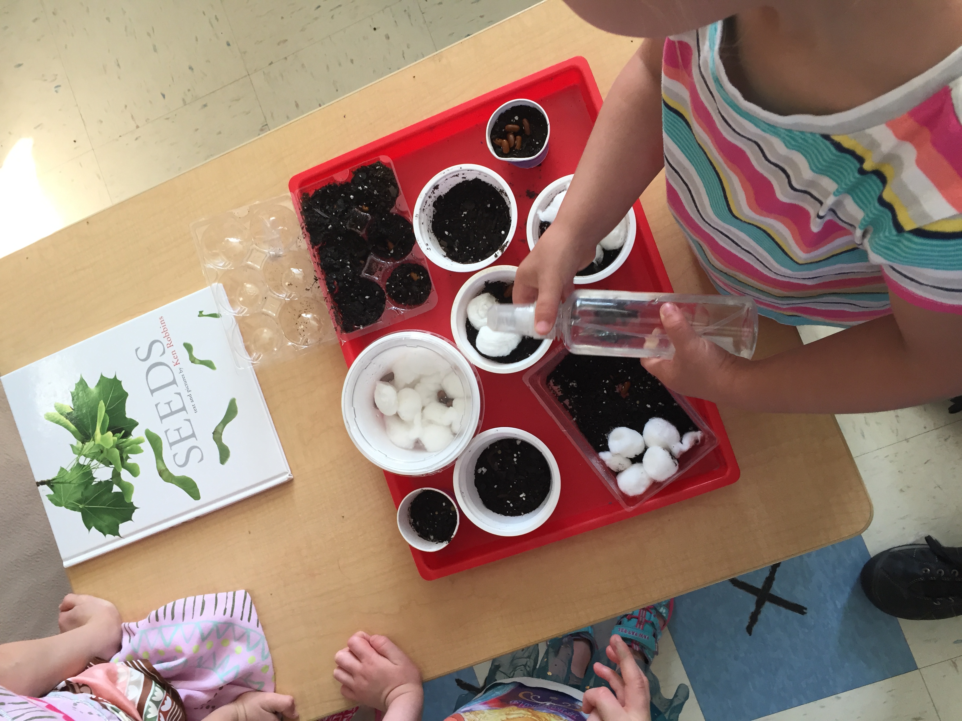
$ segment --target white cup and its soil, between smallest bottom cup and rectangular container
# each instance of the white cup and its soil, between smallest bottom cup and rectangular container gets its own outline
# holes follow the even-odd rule
[[[492,428],[478,434],[454,464],[454,497],[482,531],[529,534],[558,505],[561,471],[538,437],[519,428]]]

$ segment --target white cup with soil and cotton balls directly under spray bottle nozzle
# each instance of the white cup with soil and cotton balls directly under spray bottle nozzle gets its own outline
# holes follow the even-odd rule
[[[451,334],[474,365],[492,373],[517,373],[544,358],[550,338],[499,334],[484,330],[492,303],[511,303],[515,265],[493,265],[480,270],[461,286],[451,306]],[[479,348],[480,344],[480,348]]]

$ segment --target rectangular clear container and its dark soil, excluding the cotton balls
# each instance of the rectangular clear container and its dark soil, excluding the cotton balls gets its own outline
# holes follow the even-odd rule
[[[683,477],[718,445],[717,436],[692,405],[662,385],[637,359],[576,356],[560,348],[531,368],[524,383],[626,510]],[[627,495],[598,454],[608,451],[608,435],[614,429],[630,428],[641,434],[651,418],[669,421],[680,435],[700,432],[700,441],[680,453],[677,470],[669,478],[652,483],[639,495]]]

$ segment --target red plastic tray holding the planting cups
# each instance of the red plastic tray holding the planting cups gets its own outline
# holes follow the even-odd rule
[[[551,120],[547,158],[538,167],[521,169],[507,162],[497,162],[485,144],[485,127],[489,116],[498,106],[513,98],[528,98],[540,103]],[[508,249],[496,262],[517,265],[528,255],[524,219],[535,196],[553,180],[574,172],[600,107],[601,93],[588,62],[584,58],[572,58],[300,173],[291,178],[291,196],[297,205],[302,188],[359,162],[383,155],[392,159],[404,195],[417,198],[421,187],[443,168],[460,162],[476,162],[493,168],[515,192],[519,211],[518,229]],[[641,203],[635,203],[634,211],[638,220],[638,236],[631,255],[617,272],[595,286],[671,292],[668,273],[658,255]],[[432,265],[431,278],[438,290],[437,307],[417,317],[401,319],[387,328],[343,342],[344,359],[350,363],[369,343],[394,331],[426,330],[451,338],[451,303],[469,277],[468,273],[453,273]],[[718,435],[719,446],[698,461],[684,478],[678,479],[634,510],[624,510],[524,385],[524,373],[497,375],[483,370],[478,373],[485,396],[484,418],[479,430],[513,426],[544,440],[558,465],[564,469],[561,499],[547,522],[527,535],[490,535],[463,517],[458,534],[443,550],[423,553],[411,549],[418,572],[427,580],[514,556],[545,543],[582,534],[648,510],[660,509],[738,480],[738,463],[718,409],[712,403],[691,398],[692,405]],[[452,473],[453,466],[430,476],[416,478],[392,473],[384,475],[394,505],[397,506],[409,492],[424,486],[453,493]],[[398,543],[401,542],[398,535]]]

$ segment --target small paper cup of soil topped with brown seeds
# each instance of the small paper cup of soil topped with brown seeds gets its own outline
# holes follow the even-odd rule
[[[517,98],[492,113],[485,132],[497,160],[528,168],[544,162],[551,122],[538,103]]]

